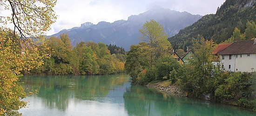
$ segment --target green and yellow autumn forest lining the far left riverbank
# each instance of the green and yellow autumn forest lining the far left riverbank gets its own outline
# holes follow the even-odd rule
[[[46,46],[46,48],[42,47]],[[74,47],[67,34],[50,37],[39,45],[47,54],[44,64],[23,74],[32,75],[99,75],[121,73],[126,53],[123,48],[104,43],[80,42]]]

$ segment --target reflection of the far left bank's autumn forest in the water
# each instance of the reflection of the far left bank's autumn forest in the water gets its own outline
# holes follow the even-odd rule
[[[26,90],[38,89],[38,96],[48,108],[66,110],[70,98],[101,100],[109,90],[122,86],[129,79],[126,74],[106,76],[30,76],[23,77]],[[27,91],[29,92],[29,91]]]

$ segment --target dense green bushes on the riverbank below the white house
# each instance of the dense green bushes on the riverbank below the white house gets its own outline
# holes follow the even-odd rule
[[[223,73],[222,82],[215,90],[215,96],[219,101],[232,101],[243,107],[255,110],[255,98],[250,89],[253,77],[241,72]]]

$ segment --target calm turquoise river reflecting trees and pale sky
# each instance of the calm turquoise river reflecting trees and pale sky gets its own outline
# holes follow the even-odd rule
[[[174,97],[131,84],[127,74],[24,76],[23,116],[256,116],[240,107]]]

